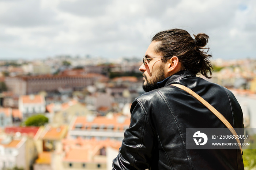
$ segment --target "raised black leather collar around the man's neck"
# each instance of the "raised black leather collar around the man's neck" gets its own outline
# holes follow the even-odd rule
[[[174,75],[167,77],[163,81],[158,82],[157,86],[158,86],[158,88],[161,88],[164,86],[168,86],[168,85],[172,84],[173,82],[176,82],[179,79],[187,78],[187,77],[195,77],[195,76],[196,75],[192,74],[189,70],[179,71],[179,72],[175,73]]]

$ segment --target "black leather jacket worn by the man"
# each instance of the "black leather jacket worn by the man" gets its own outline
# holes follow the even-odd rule
[[[181,71],[160,88],[136,98],[114,170],[244,169],[239,149],[186,149],[186,128],[226,128],[193,96],[170,84],[182,84],[215,107],[234,128],[244,128],[240,105],[226,88]],[[163,87],[161,87],[163,86]]]

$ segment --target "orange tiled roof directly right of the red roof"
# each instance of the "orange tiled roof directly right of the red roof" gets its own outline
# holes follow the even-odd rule
[[[66,131],[67,127],[64,125],[60,127],[47,126],[45,128],[45,131],[42,133],[41,138],[50,140],[60,140],[61,138],[64,138]]]

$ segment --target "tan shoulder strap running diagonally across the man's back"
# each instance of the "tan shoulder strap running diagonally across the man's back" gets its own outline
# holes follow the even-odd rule
[[[218,112],[218,110],[216,110],[214,107],[212,107],[211,104],[209,104],[208,102],[206,102],[206,100],[204,100],[201,96],[199,96],[198,94],[196,94],[193,90],[189,89],[186,86],[183,86],[181,84],[171,84],[171,86],[176,86],[178,88],[181,88],[182,90],[188,92],[189,94],[191,94],[193,97],[195,97],[199,102],[201,102],[204,106],[206,106],[215,116],[217,116],[217,118],[219,118],[221,120],[221,122],[223,122],[226,127],[230,130],[230,132],[233,135],[237,136],[236,131],[234,130],[234,128],[231,126],[231,124],[227,121],[227,119],[220,113]],[[240,140],[238,138],[236,138],[237,143],[240,143]],[[239,145],[241,153],[242,153],[242,147],[241,145]]]

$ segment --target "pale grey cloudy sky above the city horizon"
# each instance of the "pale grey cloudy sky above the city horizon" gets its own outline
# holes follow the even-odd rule
[[[0,59],[141,57],[170,28],[208,34],[214,59],[256,58],[255,0],[0,0]]]

